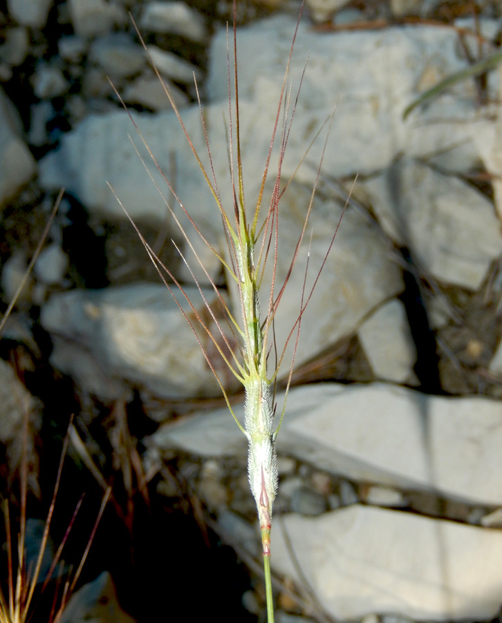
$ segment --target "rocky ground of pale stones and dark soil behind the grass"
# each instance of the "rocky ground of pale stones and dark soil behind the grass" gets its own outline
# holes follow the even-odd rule
[[[281,200],[279,282],[319,180],[310,246],[277,312],[279,349],[298,314],[307,258],[309,291],[343,217],[302,318],[278,437],[277,617],[493,620],[502,603],[498,65],[404,113],[441,80],[496,55],[502,4],[306,5],[288,76],[295,100],[308,57],[282,166],[284,183],[294,179]],[[298,12],[296,0],[237,3],[249,205]],[[118,201],[202,310],[171,243],[184,241],[166,201],[189,228],[173,191],[222,255],[225,239],[151,61],[209,167],[195,76],[221,199],[231,205],[231,16],[226,1],[0,3],[3,311],[27,275],[0,341],[1,492],[19,517],[17,479],[28,467],[28,518],[45,517],[73,414],[56,545],[72,504],[83,491],[91,501],[73,531],[85,536],[70,539],[65,559],[81,552],[112,487],[82,588],[64,615],[73,623],[151,620],[179,602],[192,617],[263,617],[245,438]],[[329,134],[324,126],[309,147],[334,108]],[[274,152],[272,182],[277,161]],[[203,291],[214,296],[211,279],[235,305],[221,264],[193,240]],[[242,417],[238,386],[216,350],[210,357]],[[286,363],[279,411],[288,372]]]

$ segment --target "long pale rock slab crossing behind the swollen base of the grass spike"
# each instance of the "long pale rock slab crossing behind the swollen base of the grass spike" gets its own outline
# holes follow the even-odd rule
[[[243,420],[241,405],[234,413]],[[501,505],[501,415],[501,403],[487,398],[320,383],[291,390],[277,451],[349,480]],[[161,426],[153,440],[206,456],[246,446],[226,409]]]

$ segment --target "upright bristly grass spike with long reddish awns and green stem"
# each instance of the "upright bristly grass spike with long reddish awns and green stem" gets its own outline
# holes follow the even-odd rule
[[[214,198],[216,208],[218,210],[219,216],[221,217],[225,238],[227,240],[227,255],[223,255],[218,249],[212,246],[210,242],[207,242],[204,232],[201,231],[200,228],[198,228],[198,225],[196,223],[196,217],[192,217],[192,215],[189,213],[189,208],[185,208],[182,200],[180,199],[180,197],[178,197],[174,189],[174,185],[162,173],[162,170],[160,169],[160,166],[158,165],[154,154],[151,152],[151,150],[149,150],[149,146],[147,145],[147,141],[141,133],[140,127],[138,127],[133,116],[129,114],[131,122],[133,123],[134,127],[136,128],[136,132],[140,137],[140,141],[142,141],[143,145],[147,149],[147,152],[149,153],[149,156],[154,161],[154,164],[162,174],[162,177],[165,180],[167,187],[169,188],[171,196],[176,199],[181,210],[183,210],[185,215],[188,217],[189,223],[192,226],[192,231],[187,231],[180,224],[180,220],[178,219],[174,208],[171,207],[168,199],[162,194],[162,191],[158,189],[160,194],[162,195],[162,198],[165,201],[167,210],[169,210],[169,213],[171,214],[174,223],[176,223],[176,225],[178,226],[180,234],[182,235],[187,248],[192,251],[195,262],[198,263],[198,268],[202,269],[205,278],[207,278],[207,280],[210,282],[212,289],[216,294],[217,304],[221,308],[220,311],[223,311],[223,318],[225,318],[223,322],[219,320],[222,314],[216,314],[213,307],[208,302],[207,297],[204,294],[203,287],[201,286],[198,278],[196,277],[194,265],[191,265],[189,263],[186,258],[185,252],[182,251],[178,246],[176,246],[176,249],[180,254],[180,258],[185,263],[196,287],[198,288],[199,293],[201,294],[201,297],[209,314],[210,322],[212,322],[211,326],[216,328],[210,329],[209,323],[196,309],[195,303],[192,302],[192,300],[189,298],[187,291],[185,291],[183,287],[183,284],[176,278],[176,276],[171,271],[171,269],[169,269],[169,267],[166,267],[164,264],[162,264],[162,262],[160,262],[158,256],[154,252],[154,249],[142,236],[138,227],[133,222],[133,219],[129,217],[129,214],[127,213],[127,208],[122,204],[120,198],[117,197],[120,206],[122,206],[124,212],[131,220],[133,227],[136,229],[136,232],[140,236],[140,239],[142,240],[142,243],[147,250],[149,258],[151,259],[151,262],[154,263],[160,275],[160,278],[162,279],[162,282],[165,284],[165,286],[173,296],[174,300],[178,304],[178,307],[180,308],[181,313],[185,316],[187,323],[189,323],[190,327],[192,328],[194,336],[198,341],[198,345],[201,347],[201,351],[205,356],[207,365],[209,365],[210,369],[214,374],[214,377],[216,377],[216,380],[219,383],[230,413],[232,413],[232,416],[234,417],[237,426],[239,426],[245,437],[247,437],[248,439],[248,476],[250,489],[252,491],[252,495],[254,496],[259,524],[261,527],[261,543],[266,579],[266,599],[269,623],[272,623],[274,620],[272,582],[270,576],[270,529],[272,525],[272,505],[274,503],[274,499],[277,493],[278,483],[275,441],[277,438],[277,433],[279,432],[279,428],[281,426],[283,415],[286,410],[286,397],[290,388],[292,368],[295,363],[295,354],[297,351],[299,332],[301,328],[301,318],[308,303],[310,302],[310,298],[312,297],[313,291],[319,280],[320,273],[324,268],[324,264],[326,263],[328,254],[331,250],[331,247],[333,246],[338,226],[340,226],[339,222],[337,227],[335,228],[335,231],[333,231],[333,237],[331,238],[331,242],[330,244],[328,244],[328,248],[326,249],[326,254],[324,255],[324,262],[322,262],[322,267],[319,269],[317,276],[315,276],[315,279],[313,280],[313,286],[309,287],[308,289],[306,288],[306,276],[308,269],[307,260],[307,266],[305,267],[304,287],[299,293],[297,316],[291,321],[290,331],[288,334],[288,338],[286,339],[286,343],[281,345],[281,347],[277,349],[274,338],[275,316],[277,308],[281,303],[283,293],[286,289],[286,286],[288,285],[292,270],[294,269],[297,262],[299,248],[301,244],[304,243],[304,239],[306,237],[308,219],[313,208],[315,189],[317,187],[317,181],[319,179],[322,165],[321,161],[319,163],[319,168],[317,169],[317,178],[313,185],[313,190],[310,195],[310,201],[308,205],[305,206],[304,224],[301,228],[301,231],[299,231],[295,249],[292,249],[291,251],[291,256],[289,260],[290,264],[287,276],[282,283],[277,284],[276,273],[277,265],[279,262],[279,205],[281,203],[283,193],[288,188],[288,183],[284,184],[281,181],[281,168],[284,156],[286,154],[288,137],[290,136],[290,131],[292,129],[292,120],[295,116],[301,82],[304,78],[304,72],[306,71],[307,65],[306,63],[304,66],[304,72],[302,73],[299,80],[299,87],[295,96],[295,94],[292,92],[291,84],[288,84],[288,79],[292,51],[295,44],[295,38],[297,37],[299,20],[301,19],[302,10],[303,3],[301,5],[295,33],[292,37],[289,57],[286,62],[286,71],[283,78],[279,101],[277,102],[277,114],[275,116],[275,123],[271,129],[268,156],[266,157],[266,161],[263,164],[263,174],[261,177],[260,190],[252,209],[249,209],[248,206],[246,206],[244,199],[245,172],[243,171],[241,154],[239,82],[236,62],[236,2],[234,1],[234,29],[232,46],[230,46],[230,44],[228,43],[229,35],[227,28],[227,74],[229,85],[229,123],[227,127],[227,148],[230,163],[230,183],[233,197],[233,204],[231,206],[223,206],[223,203],[221,201],[219,182],[216,179],[216,175],[214,173],[210,142],[207,134],[201,99],[199,97],[196,82],[196,93],[199,109],[201,111],[201,124],[205,136],[207,154],[209,155],[209,170],[204,167],[201,161],[201,157],[199,156],[196,148],[194,147],[194,144],[192,143],[189,133],[187,132],[187,129],[185,128],[185,125],[183,123],[182,115],[180,114],[180,111],[178,111],[178,108],[176,107],[176,104],[171,97],[171,94],[169,93],[169,88],[162,81],[160,73],[156,69],[154,63],[151,62],[152,66],[154,66],[154,70],[157,73],[158,80],[160,80],[160,82],[162,82],[162,84],[164,85],[165,94],[167,98],[169,98],[172,109],[174,110],[174,113],[178,118],[178,122],[183,129],[185,138],[192,149],[194,158],[196,159],[198,166],[201,169],[202,177],[207,186],[210,188],[210,192],[212,194],[212,197]],[[138,36],[141,39],[139,31]],[[143,46],[145,46],[143,41],[142,43]],[[145,46],[145,50],[146,49],[147,48]],[[232,83],[234,98],[232,98]],[[122,102],[122,99],[120,98],[120,95],[116,90],[115,93]],[[124,105],[123,102],[122,105]],[[333,114],[331,118],[326,120],[326,124],[324,125],[324,127],[326,127],[326,125],[328,126],[326,129],[326,141],[329,134],[329,128],[331,127],[331,121],[333,120]],[[319,133],[317,134],[317,136],[319,136]],[[265,204],[264,195],[266,181],[268,179],[272,154],[275,154],[275,145],[278,145],[279,147],[277,173],[275,174],[270,202]],[[324,143],[324,149],[322,152],[323,156],[324,150],[326,150],[326,142]],[[139,155],[139,150],[136,151]],[[147,168],[146,164],[145,168]],[[152,181],[154,181],[153,176],[151,176],[151,179]],[[112,192],[114,192],[113,188],[111,188],[111,190]],[[219,288],[216,287],[214,280],[212,280],[212,278],[210,277],[207,269],[203,264],[203,261],[201,260],[201,258],[199,258],[198,254],[194,249],[194,244],[192,244],[192,236],[199,236],[201,240],[203,240],[203,242],[207,245],[210,251],[214,253],[214,255],[216,255],[216,258],[219,260],[219,262],[221,262],[221,265],[225,269],[227,279],[230,280],[230,282],[233,282],[233,288],[238,294],[237,304],[234,305],[235,309],[231,309],[230,306],[227,305],[225,299],[219,291]],[[173,244],[176,245],[176,243],[174,242]],[[272,264],[272,277],[269,282],[266,282],[264,278],[264,269],[266,267],[266,264],[268,263]],[[266,305],[264,306],[264,309],[261,309],[260,307],[260,291],[266,291]],[[192,313],[189,314],[187,313],[187,311],[184,311],[182,305],[183,298],[188,303],[189,309]],[[204,316],[207,317],[207,314],[204,314]],[[207,334],[212,345],[214,345],[216,350],[219,352],[219,355],[227,365],[227,368],[230,370],[232,375],[242,384],[244,388],[245,418],[243,425],[241,424],[241,422],[239,422],[239,419],[237,419],[234,410],[232,409],[230,397],[229,395],[227,395],[227,391],[225,390],[223,380],[221,379],[221,374],[219,374],[218,370],[216,370],[216,367],[212,362],[209,353],[203,346],[203,341],[201,340],[197,329],[199,329],[199,331],[200,329],[202,329],[203,332]],[[229,335],[232,336],[231,339],[228,337]],[[277,418],[278,422],[275,422],[275,386],[277,383],[279,368],[281,368],[281,365],[283,365],[286,347],[291,341],[293,343],[293,354],[292,360],[288,362],[290,367],[288,380],[286,383],[286,391],[284,394],[285,397],[283,401],[283,406],[279,410],[279,416]],[[238,347],[232,347],[233,343],[238,344]],[[271,353],[275,354],[275,365],[272,367],[272,369],[270,369],[270,366],[268,365]]]

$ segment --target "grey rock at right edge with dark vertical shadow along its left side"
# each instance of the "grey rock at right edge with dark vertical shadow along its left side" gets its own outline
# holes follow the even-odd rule
[[[456,177],[405,160],[364,182],[384,231],[425,274],[478,289],[502,252],[493,205]]]

